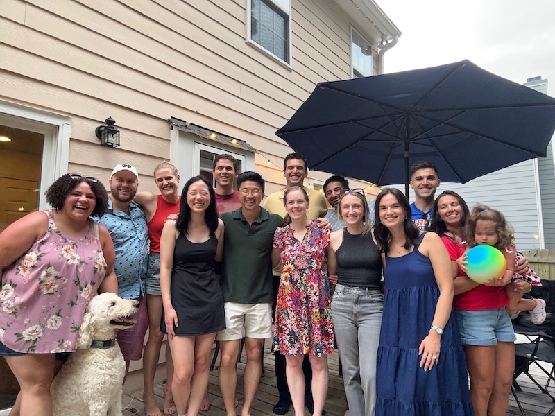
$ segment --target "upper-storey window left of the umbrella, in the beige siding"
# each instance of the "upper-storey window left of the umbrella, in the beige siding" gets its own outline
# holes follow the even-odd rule
[[[290,0],[248,0],[248,40],[289,64],[291,57]]]

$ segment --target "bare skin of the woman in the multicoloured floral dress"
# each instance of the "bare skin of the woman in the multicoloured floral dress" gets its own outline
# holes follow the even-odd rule
[[[309,202],[302,191],[290,191],[284,200],[287,214],[291,217],[291,228],[293,236],[302,241],[307,232],[310,220],[307,217]],[[281,252],[279,249],[272,250],[272,266],[276,267],[280,263]],[[305,356],[285,356],[287,363],[287,385],[291,393],[291,401],[295,408],[295,416],[305,415],[305,374],[302,372],[302,361]],[[314,415],[321,415],[327,396],[328,370],[327,354],[315,356],[309,354],[310,365],[312,367],[312,398],[314,400]]]

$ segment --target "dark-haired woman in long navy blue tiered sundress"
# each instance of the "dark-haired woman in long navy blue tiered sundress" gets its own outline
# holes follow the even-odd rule
[[[398,189],[379,193],[375,214],[386,284],[376,415],[472,415],[445,245],[437,234],[420,234]]]

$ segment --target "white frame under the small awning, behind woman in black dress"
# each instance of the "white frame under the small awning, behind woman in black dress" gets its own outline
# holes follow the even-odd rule
[[[178,168],[180,177],[180,191],[189,177],[200,174],[200,150],[223,155],[228,153],[236,159],[241,160],[241,168],[244,172],[255,170],[255,154],[241,148],[225,146],[216,141],[210,141],[198,137],[191,132],[185,132],[174,127],[170,130],[170,162]]]

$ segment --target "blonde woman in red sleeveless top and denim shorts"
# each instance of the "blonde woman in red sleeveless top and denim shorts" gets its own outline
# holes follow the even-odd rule
[[[143,353],[144,412],[146,416],[161,416],[154,398],[154,376],[160,357],[164,334],[160,331],[162,316],[162,294],[160,293],[160,236],[170,214],[179,214],[180,195],[178,191],[179,174],[176,166],[162,162],[154,169],[154,180],[160,194],[137,192],[135,202],[142,205],[151,239],[151,253],[148,255],[146,275],[146,306],[148,309],[148,340]],[[164,415],[176,411],[171,397],[171,378],[173,362],[169,348],[166,349],[167,384],[164,386]]]

